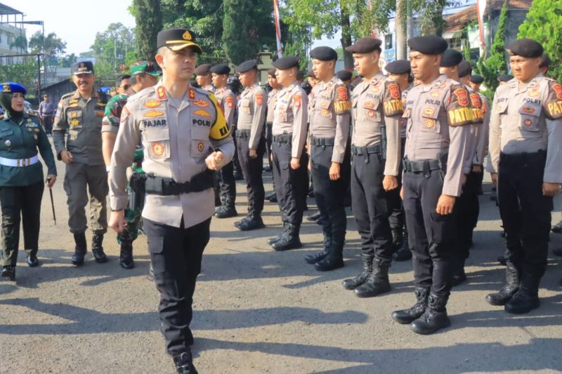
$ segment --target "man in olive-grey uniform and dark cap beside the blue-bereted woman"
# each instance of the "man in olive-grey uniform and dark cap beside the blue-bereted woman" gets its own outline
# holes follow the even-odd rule
[[[74,234],[72,265],[80,266],[86,255],[85,207],[90,193],[90,228],[93,232],[92,252],[96,262],[107,262],[103,252],[103,234],[107,232],[107,171],[103,162],[101,121],[105,100],[93,90],[96,76],[89,61],[72,65],[73,93],[63,95],[58,103],[53,124],[53,143],[58,159],[66,164],[65,192],[68,204],[68,225]]]

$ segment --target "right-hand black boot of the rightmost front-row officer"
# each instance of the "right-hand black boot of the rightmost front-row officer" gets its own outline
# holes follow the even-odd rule
[[[539,285],[545,267],[532,266],[523,268],[521,286],[511,300],[505,305],[505,311],[511,314],[527,314],[540,306]]]

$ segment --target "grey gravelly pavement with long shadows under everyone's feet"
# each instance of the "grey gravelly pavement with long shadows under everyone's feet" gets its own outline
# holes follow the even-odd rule
[[[0,373],[174,373],[159,333],[158,294],[145,277],[145,237],[135,242],[135,269],[119,267],[115,234],[105,240],[109,262],[98,265],[89,253],[83,267],[72,267],[63,170],[59,164],[61,179],[53,188],[58,225],[48,192],[43,199],[41,266],[25,266],[22,252],[17,283],[0,282]],[[237,189],[237,210],[245,213],[244,185]],[[341,287],[342,279],[361,269],[351,215],[346,266],[325,274],[303,260],[321,245],[320,228],[311,222],[303,224],[303,249],[275,253],[266,239],[281,227],[276,205],[266,203],[267,227],[255,232],[237,231],[235,218],[214,219],[195,292],[197,369],[213,374],[562,372],[560,258],[549,258],[540,309],[512,316],[484,301],[504,276],[495,262],[504,245],[499,215],[489,196],[486,181],[467,261],[469,281],[453,290],[447,306],[452,326],[429,336],[390,318],[393,310],[414,302],[411,262],[393,264],[392,290],[377,298],[356,298]],[[308,204],[313,208],[313,199]],[[561,218],[560,196],[556,208],[553,222]],[[560,246],[562,235],[553,234],[551,248]]]

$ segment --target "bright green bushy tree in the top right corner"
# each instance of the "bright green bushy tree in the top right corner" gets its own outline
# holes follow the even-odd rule
[[[554,62],[549,69],[549,76],[562,81],[562,2],[552,0],[535,0],[527,13],[527,18],[519,26],[519,38],[539,41],[544,51]]]

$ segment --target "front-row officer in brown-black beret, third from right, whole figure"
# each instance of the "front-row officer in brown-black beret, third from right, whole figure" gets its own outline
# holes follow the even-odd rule
[[[346,48],[363,76],[351,94],[351,206],[361,236],[363,272],[343,282],[360,298],[390,290],[388,267],[394,252],[388,217],[400,170],[400,87],[381,74],[381,40],[361,38]]]

